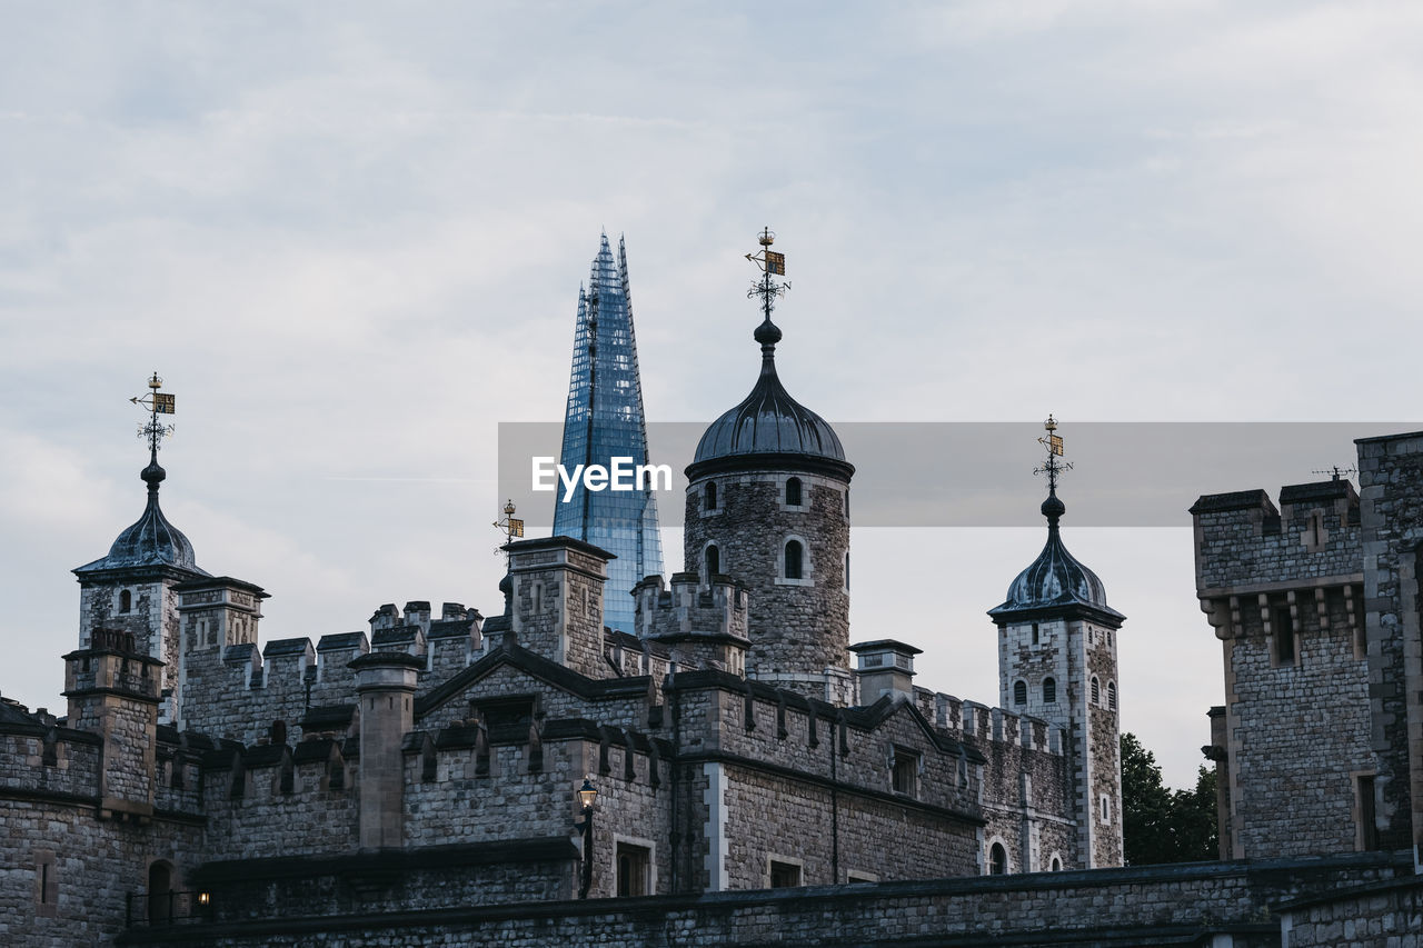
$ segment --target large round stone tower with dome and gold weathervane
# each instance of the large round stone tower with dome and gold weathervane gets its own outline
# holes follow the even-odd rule
[[[710,585],[734,576],[750,594],[747,676],[850,703],[850,478],[835,431],[781,386],[771,322],[785,258],[770,249],[753,288],[761,296],[761,374],[739,406],[712,423],[687,465],[686,572]]]

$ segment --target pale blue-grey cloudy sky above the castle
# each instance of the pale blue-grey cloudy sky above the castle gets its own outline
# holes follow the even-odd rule
[[[30,706],[63,707],[68,571],[142,510],[154,370],[164,510],[272,594],[263,639],[497,612],[498,424],[562,418],[603,229],[653,421],[754,381],[741,255],[770,225],[781,379],[831,423],[1052,411],[1069,451],[1089,421],[1419,427],[1416,3],[0,10],[0,693]],[[1072,490],[1137,490],[1140,458],[1064,481],[1067,545],[1128,616],[1121,726],[1173,786],[1222,700],[1185,508],[1315,480],[1254,454],[1175,527],[1073,525]],[[1030,467],[1003,487],[1042,500]],[[983,612],[1042,539],[857,528],[852,639],[998,703]]]

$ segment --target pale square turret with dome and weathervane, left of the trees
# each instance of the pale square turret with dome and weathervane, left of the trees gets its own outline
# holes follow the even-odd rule
[[[989,611],[998,625],[1000,703],[1052,722],[1067,734],[1079,801],[1079,865],[1121,865],[1121,730],[1117,715],[1117,631],[1126,616],[1107,605],[1091,569],[1063,545],[1057,498],[1062,438],[1047,418],[1047,544],[1017,574],[1007,599]]]

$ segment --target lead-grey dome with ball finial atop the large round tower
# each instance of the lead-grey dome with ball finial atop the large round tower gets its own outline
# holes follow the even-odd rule
[[[767,317],[756,329],[761,374],[739,406],[707,427],[687,477],[768,464],[822,468],[848,480],[855,468],[830,423],[793,399],[776,373],[781,330]]]

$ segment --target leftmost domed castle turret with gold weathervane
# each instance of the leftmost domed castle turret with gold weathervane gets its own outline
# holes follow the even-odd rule
[[[134,401],[149,410],[142,428],[148,438],[148,467],[139,477],[148,484],[148,505],[142,517],[121,532],[108,555],[74,569],[80,582],[80,649],[94,646],[95,632],[131,636],[132,648],[162,662],[158,696],[161,720],[172,723],[182,703],[179,678],[179,616],[175,586],[208,576],[182,531],[168,522],[158,505],[158,487],[168,473],[158,464],[158,443],[169,428],[158,423],[171,414],[174,396],[161,391],[155,373],[148,383],[151,393]],[[129,641],[129,639],[125,639]]]

